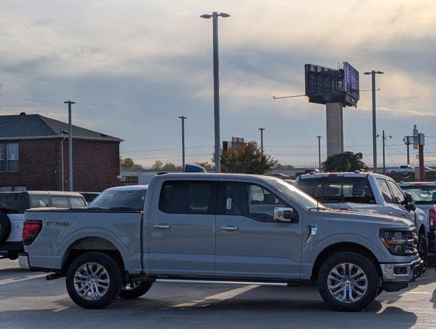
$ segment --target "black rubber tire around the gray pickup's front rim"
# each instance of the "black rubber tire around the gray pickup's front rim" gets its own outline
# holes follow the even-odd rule
[[[366,276],[366,291],[356,302],[341,302],[335,299],[335,297],[333,297],[333,294],[329,291],[329,273],[333,271],[335,267],[344,263],[350,263],[359,267]],[[340,283],[339,280],[337,280],[337,282],[338,284]],[[320,291],[322,299],[327,304],[327,306],[329,306],[329,308],[342,312],[355,312],[366,308],[366,306],[368,306],[379,294],[379,282],[379,273],[377,273],[376,267],[374,266],[372,261],[365,256],[362,256],[361,254],[357,254],[355,252],[340,252],[339,254],[334,254],[333,256],[330,256],[329,258],[327,258],[327,260],[324,261],[324,264],[322,264],[318,273],[318,290]],[[349,285],[350,280],[344,283]],[[357,280],[355,283],[357,283]],[[344,284],[342,284],[341,287],[345,287]],[[339,290],[342,291],[342,289]]]

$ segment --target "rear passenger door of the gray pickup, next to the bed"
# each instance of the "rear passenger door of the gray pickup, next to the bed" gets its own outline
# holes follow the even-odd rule
[[[213,276],[216,182],[159,180],[154,191],[147,223],[150,273]]]

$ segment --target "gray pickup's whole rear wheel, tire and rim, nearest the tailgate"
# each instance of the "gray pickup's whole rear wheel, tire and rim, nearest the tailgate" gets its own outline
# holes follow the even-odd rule
[[[120,294],[123,279],[118,263],[107,254],[89,252],[77,257],[66,273],[66,290],[83,308],[105,308]]]

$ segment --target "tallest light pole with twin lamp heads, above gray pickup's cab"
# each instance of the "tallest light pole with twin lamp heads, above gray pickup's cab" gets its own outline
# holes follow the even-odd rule
[[[215,117],[215,171],[221,171],[220,156],[220,78],[218,70],[218,16],[229,17],[225,12],[213,12],[212,14],[203,14],[202,19],[212,19],[213,25],[213,42],[214,42],[214,117]]]

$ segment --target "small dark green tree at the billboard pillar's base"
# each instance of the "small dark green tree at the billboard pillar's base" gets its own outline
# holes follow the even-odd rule
[[[363,154],[357,152],[356,154],[346,151],[339,154],[329,156],[327,160],[322,162],[322,169],[325,172],[339,172],[339,171],[356,171],[368,170],[368,166],[362,161]]]

